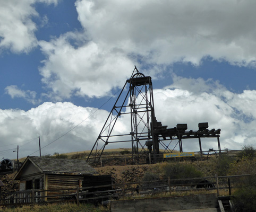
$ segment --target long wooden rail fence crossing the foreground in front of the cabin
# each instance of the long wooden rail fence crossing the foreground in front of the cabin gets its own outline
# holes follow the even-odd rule
[[[166,179],[143,182],[130,182],[114,185],[99,185],[74,189],[55,190],[25,190],[0,193],[0,206],[19,206],[28,204],[45,204],[52,202],[84,201],[101,202],[120,198],[136,198],[135,196],[153,195],[156,193],[215,191],[220,196],[221,191],[232,195],[233,189],[238,188],[248,178],[256,178],[256,174],[233,176],[210,176],[207,178]],[[104,188],[112,187],[112,190]],[[94,190],[94,191],[91,191]],[[95,191],[98,190],[98,191]]]

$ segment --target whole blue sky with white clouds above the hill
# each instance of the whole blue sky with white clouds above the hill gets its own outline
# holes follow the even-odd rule
[[[221,129],[255,147],[256,7],[250,0],[0,0],[0,158],[90,150],[134,66],[168,128]],[[127,91],[127,89],[125,90]],[[121,119],[116,131],[130,129]],[[199,151],[197,141],[183,151]],[[112,144],[126,148],[130,144]],[[202,148],[217,149],[203,139]],[[14,151],[14,152],[13,152]]]

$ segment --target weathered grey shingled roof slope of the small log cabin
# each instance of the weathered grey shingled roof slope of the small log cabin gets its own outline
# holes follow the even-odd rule
[[[43,173],[72,175],[99,174],[85,161],[36,156],[28,156],[28,159],[35,163]]]

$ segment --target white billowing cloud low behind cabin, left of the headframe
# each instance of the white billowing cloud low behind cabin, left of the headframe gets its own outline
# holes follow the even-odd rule
[[[90,149],[108,115],[104,110],[93,114],[96,110],[77,107],[69,102],[45,102],[28,111],[0,110],[1,158],[15,158],[12,151],[4,151],[17,145],[20,157],[34,152],[33,155],[39,155],[38,139],[24,142],[38,136],[42,154]]]

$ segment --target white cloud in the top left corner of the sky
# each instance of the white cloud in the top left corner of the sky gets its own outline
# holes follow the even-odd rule
[[[38,2],[56,5],[58,0],[0,1],[0,50],[21,53],[37,46],[37,25],[31,18],[39,15],[34,7]]]

